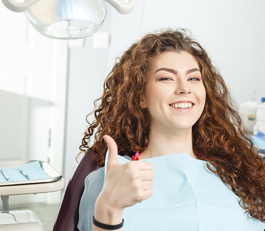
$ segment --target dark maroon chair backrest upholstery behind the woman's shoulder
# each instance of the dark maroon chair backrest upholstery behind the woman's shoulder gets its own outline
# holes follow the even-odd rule
[[[79,231],[79,204],[85,188],[87,175],[100,167],[92,162],[95,153],[89,149],[75,168],[69,183],[67,184],[63,200],[61,202],[53,231]]]

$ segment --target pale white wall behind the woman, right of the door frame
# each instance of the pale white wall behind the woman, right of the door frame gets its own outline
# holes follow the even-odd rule
[[[69,179],[86,129],[85,116],[102,91],[103,79],[115,57],[146,32],[161,27],[191,29],[220,70],[236,101],[256,101],[265,96],[264,0],[135,0],[133,11],[119,14],[107,4],[101,30],[110,34],[107,49],[93,49],[92,37],[83,48],[69,54],[65,170]]]

